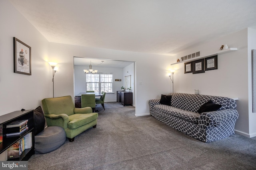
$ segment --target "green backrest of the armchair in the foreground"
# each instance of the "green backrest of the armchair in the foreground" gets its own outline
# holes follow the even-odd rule
[[[66,114],[69,116],[74,114],[75,105],[71,96],[63,96],[59,98],[43,99],[42,107],[44,114]]]

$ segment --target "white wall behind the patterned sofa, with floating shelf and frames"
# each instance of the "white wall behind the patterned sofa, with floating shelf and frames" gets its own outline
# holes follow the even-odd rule
[[[255,35],[253,38],[256,38]],[[183,53],[177,55],[177,58],[196,51],[201,51],[201,56],[214,53],[223,44],[227,44],[229,47],[237,47],[238,51],[218,55],[217,70],[207,70],[205,73],[199,74],[184,74],[184,63],[174,65],[173,68],[177,69],[174,73],[174,92],[193,94],[194,90],[198,89],[200,94],[238,97],[239,118],[236,121],[235,130],[236,133],[251,137],[252,133],[256,132],[256,128],[251,126],[248,111],[248,100],[251,100],[251,98],[248,98],[248,87],[251,88],[251,80],[249,83],[248,80],[252,76],[248,74],[248,72],[251,72],[251,69],[248,68],[251,65],[251,61],[248,61],[248,58],[251,58],[251,52],[248,54],[248,51],[251,50],[248,50],[247,47],[247,29],[184,50]],[[255,121],[255,115],[250,114],[250,116]],[[250,132],[248,126],[251,127]]]

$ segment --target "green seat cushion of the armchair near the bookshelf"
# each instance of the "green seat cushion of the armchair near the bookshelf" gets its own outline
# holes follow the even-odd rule
[[[76,129],[82,125],[86,125],[91,121],[98,118],[98,113],[74,114],[69,116],[70,122],[68,123],[69,129]]]

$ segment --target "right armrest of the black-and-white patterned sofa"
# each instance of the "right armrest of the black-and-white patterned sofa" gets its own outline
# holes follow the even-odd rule
[[[236,109],[223,109],[201,113],[198,119],[198,124],[200,129],[205,129],[206,126],[225,126],[236,122],[237,118],[238,111]]]

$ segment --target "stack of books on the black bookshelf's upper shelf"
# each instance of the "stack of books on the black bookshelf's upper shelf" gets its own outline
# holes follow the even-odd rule
[[[28,130],[28,120],[18,120],[6,125],[6,136],[20,135]]]

